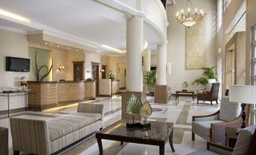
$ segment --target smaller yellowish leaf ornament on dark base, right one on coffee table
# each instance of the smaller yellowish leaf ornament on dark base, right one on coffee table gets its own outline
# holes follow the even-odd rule
[[[152,108],[150,106],[150,102],[146,101],[142,108],[140,109],[140,116],[143,117],[143,123],[141,123],[141,127],[147,128],[150,127],[150,123],[147,123],[147,117],[150,117],[152,114]]]

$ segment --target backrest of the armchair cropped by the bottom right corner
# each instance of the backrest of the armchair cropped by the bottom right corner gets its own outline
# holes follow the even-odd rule
[[[243,155],[247,153],[255,129],[256,126],[249,126],[239,132],[233,155]]]

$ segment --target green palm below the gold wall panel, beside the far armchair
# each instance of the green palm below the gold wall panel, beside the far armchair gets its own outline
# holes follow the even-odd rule
[[[215,68],[215,66],[202,68],[202,76],[193,81],[193,84],[202,84],[203,86],[205,86],[206,84],[208,84],[208,79],[217,80]]]

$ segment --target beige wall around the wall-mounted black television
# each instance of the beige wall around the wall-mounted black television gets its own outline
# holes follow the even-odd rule
[[[5,56],[29,58],[26,35],[0,29],[0,91],[4,90],[5,87],[19,87],[20,78],[23,76],[29,77],[29,73],[26,72],[5,71]],[[0,97],[0,103],[0,111],[8,109],[6,97]],[[11,98],[11,109],[22,108],[23,106],[23,97]]]

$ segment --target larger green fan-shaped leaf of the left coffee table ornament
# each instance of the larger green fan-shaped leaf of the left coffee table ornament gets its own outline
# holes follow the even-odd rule
[[[139,114],[142,103],[134,94],[128,99],[125,105],[125,113],[129,115]]]

